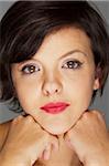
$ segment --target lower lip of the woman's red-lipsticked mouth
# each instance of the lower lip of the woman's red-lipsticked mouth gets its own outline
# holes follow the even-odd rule
[[[62,106],[53,106],[53,107],[41,107],[42,111],[50,113],[50,114],[58,114],[65,111],[65,108],[69,105],[62,105]]]

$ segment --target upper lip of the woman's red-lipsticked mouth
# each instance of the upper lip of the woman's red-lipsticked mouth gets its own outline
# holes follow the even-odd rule
[[[65,103],[65,102],[51,102],[47,103],[43,106],[41,106],[42,110],[48,110],[48,108],[56,108],[56,107],[62,107],[62,106],[69,106],[69,103]]]

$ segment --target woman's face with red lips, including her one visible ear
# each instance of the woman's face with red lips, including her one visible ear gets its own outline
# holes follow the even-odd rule
[[[99,87],[90,40],[76,28],[47,35],[31,60],[12,64],[12,79],[24,112],[57,135],[78,121]]]

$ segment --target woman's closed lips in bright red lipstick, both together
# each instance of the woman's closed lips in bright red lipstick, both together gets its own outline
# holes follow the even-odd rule
[[[58,114],[65,111],[67,106],[69,106],[68,103],[57,102],[57,103],[48,103],[44,106],[41,106],[40,108],[50,114]]]

